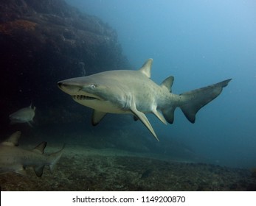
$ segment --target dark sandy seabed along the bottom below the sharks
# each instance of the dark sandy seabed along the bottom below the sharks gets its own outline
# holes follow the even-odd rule
[[[53,152],[60,147],[49,147]],[[1,191],[256,191],[252,171],[67,145],[53,174],[0,175]]]

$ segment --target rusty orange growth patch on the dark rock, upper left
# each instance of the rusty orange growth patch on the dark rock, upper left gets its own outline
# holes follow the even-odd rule
[[[29,32],[35,30],[36,25],[37,24],[35,22],[23,19],[9,21],[7,23],[0,24],[0,32],[6,35],[10,35],[16,29],[23,29],[26,32]]]

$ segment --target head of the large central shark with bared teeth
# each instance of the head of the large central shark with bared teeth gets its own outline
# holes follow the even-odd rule
[[[72,99],[86,107],[95,110],[109,111],[119,110],[123,107],[125,98],[122,88],[117,87],[114,79],[108,79],[100,75],[77,77],[58,82],[58,87],[63,92],[72,96]]]

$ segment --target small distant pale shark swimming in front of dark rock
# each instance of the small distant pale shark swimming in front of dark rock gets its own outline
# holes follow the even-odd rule
[[[10,124],[27,123],[32,127],[33,118],[35,116],[35,107],[30,104],[29,107],[24,107],[15,113],[10,114]]]

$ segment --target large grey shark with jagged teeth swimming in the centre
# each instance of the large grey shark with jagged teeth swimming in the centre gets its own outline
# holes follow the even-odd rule
[[[104,71],[66,79],[58,82],[58,87],[75,102],[94,109],[93,125],[97,125],[107,113],[131,113],[159,141],[145,113],[153,113],[164,124],[173,124],[174,110],[180,107],[187,119],[194,123],[198,110],[215,99],[231,80],[177,95],[171,90],[172,76],[161,85],[150,79],[152,62],[152,59],[147,60],[138,71]]]

